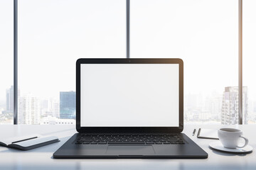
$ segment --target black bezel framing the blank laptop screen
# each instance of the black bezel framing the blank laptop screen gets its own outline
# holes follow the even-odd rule
[[[81,64],[178,64],[179,123],[178,127],[81,127],[80,65]],[[183,130],[183,61],[181,59],[78,59],[76,62],[76,130],[80,133],[179,133]]]

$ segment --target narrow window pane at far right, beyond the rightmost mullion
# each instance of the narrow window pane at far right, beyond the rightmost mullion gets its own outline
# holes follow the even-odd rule
[[[246,96],[243,98],[245,106],[243,112],[245,113],[246,123],[256,123],[256,80],[255,62],[256,62],[256,1],[243,1],[243,86],[247,89]]]

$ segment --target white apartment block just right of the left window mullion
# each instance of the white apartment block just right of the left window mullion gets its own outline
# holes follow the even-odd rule
[[[41,119],[41,103],[34,96],[18,98],[18,124],[39,125]]]

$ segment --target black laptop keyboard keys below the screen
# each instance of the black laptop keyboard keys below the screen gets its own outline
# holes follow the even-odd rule
[[[80,135],[75,140],[75,145],[107,144],[180,145],[184,142],[178,135]]]

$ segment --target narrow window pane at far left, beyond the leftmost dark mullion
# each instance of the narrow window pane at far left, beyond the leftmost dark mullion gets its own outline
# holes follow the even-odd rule
[[[14,1],[0,1],[0,124],[14,123]]]

